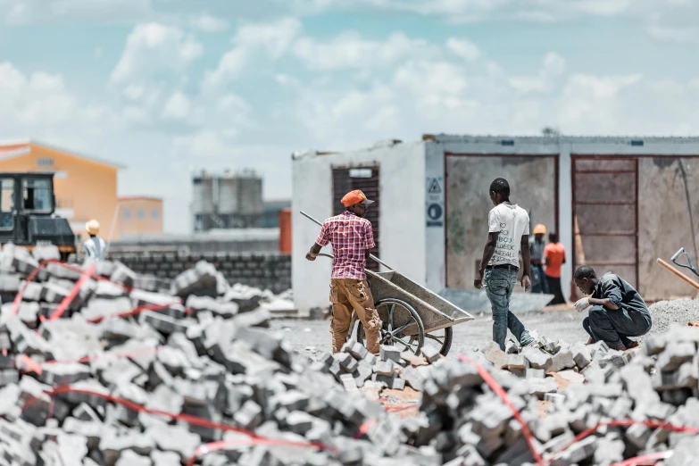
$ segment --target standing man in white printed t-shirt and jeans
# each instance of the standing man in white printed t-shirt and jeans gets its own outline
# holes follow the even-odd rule
[[[505,349],[507,329],[525,346],[534,342],[524,325],[510,312],[510,296],[517,285],[522,254],[522,286],[531,288],[529,279],[529,215],[510,203],[510,184],[498,178],[490,184],[490,200],[495,204],[488,214],[488,237],[483,259],[473,285],[480,289],[486,279],[486,292],[493,308],[493,341]]]

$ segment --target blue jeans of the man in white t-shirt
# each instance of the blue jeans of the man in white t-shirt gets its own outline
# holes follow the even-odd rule
[[[517,285],[517,270],[486,270],[486,293],[493,308],[493,341],[504,351],[507,329],[517,338],[520,345],[528,345],[534,338],[530,337],[524,325],[510,312],[510,296]]]

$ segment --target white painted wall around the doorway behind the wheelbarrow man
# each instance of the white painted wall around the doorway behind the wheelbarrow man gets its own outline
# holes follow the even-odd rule
[[[329,305],[332,269],[328,258],[305,260],[320,227],[299,212],[324,221],[333,212],[332,167],[373,163],[379,164],[381,190],[379,257],[395,270],[425,283],[425,144],[420,141],[341,154],[304,154],[292,163],[292,282],[298,309]],[[329,253],[329,249],[325,247],[323,252]]]

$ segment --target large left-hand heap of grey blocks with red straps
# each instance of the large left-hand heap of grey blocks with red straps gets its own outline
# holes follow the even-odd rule
[[[395,348],[373,361],[359,344],[329,364],[307,360],[260,329],[264,295],[229,287],[207,262],[168,283],[119,262],[95,264],[109,280],[60,263],[37,271],[53,258],[0,255],[0,465],[440,464],[356,389],[367,363],[362,381],[396,383]]]

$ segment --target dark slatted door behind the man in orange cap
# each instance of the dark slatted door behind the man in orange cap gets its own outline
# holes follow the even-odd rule
[[[371,254],[381,258],[379,255],[379,207],[381,205],[379,189],[379,167],[376,165],[364,167],[333,167],[332,169],[332,190],[333,190],[333,215],[339,215],[345,211],[341,203],[342,197],[354,189],[361,189],[362,192],[372,201],[366,218],[371,222],[374,230],[374,242],[376,247],[371,250]],[[367,261],[367,269],[379,271],[379,264],[374,261]]]

